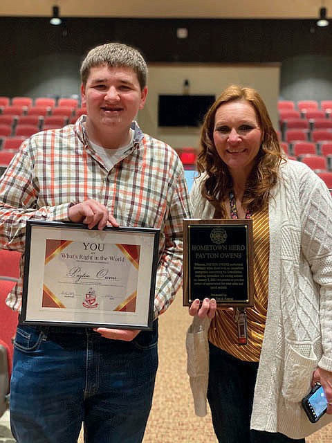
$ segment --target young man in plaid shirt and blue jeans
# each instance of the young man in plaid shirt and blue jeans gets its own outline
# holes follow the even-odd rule
[[[142,441],[158,365],[158,315],[181,284],[183,168],[133,121],[147,98],[136,49],[93,48],[81,67],[87,116],[21,145],[0,181],[0,247],[24,251],[28,219],[160,228],[154,329],[19,325],[10,388],[18,443]],[[23,263],[22,263],[23,265]],[[23,271],[23,267],[22,267]],[[148,288],[147,288],[148,290]],[[21,282],[8,296],[19,311]]]

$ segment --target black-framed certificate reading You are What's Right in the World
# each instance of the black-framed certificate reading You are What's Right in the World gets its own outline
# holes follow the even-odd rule
[[[151,329],[159,229],[26,224],[21,323]]]

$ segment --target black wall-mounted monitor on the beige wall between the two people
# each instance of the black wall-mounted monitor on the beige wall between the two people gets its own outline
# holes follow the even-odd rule
[[[215,96],[160,95],[158,126],[200,126]]]

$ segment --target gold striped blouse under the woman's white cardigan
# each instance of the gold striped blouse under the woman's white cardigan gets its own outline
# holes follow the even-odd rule
[[[268,307],[268,256],[270,240],[268,208],[252,215],[254,237],[254,287],[255,304],[246,308],[248,341],[237,344],[235,311],[218,309],[209,330],[210,342],[243,361],[259,361],[264,338],[266,310]]]

